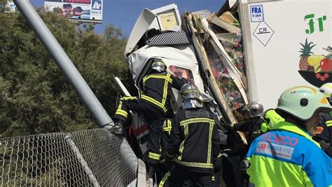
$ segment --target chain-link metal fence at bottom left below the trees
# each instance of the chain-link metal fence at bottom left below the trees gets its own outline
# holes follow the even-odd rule
[[[0,139],[1,186],[127,186],[137,162],[103,129]]]

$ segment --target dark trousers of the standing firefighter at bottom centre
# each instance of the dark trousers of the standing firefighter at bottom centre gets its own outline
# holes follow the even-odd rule
[[[214,186],[213,176],[212,173],[193,172],[174,162],[159,186]]]

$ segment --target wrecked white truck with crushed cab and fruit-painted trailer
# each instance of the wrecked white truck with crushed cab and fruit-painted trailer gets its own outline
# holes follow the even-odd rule
[[[277,10],[285,11],[276,17]],[[242,109],[250,101],[271,109],[286,88],[310,84],[319,88],[332,82],[327,65],[332,67],[331,10],[331,0],[226,1],[214,14],[205,10],[179,15],[176,4],[145,8],[125,48],[132,86],[127,89],[116,81],[123,95],[139,96],[148,67],[153,59],[161,59],[171,74],[198,85],[203,101],[219,118],[237,123],[244,120]],[[181,97],[174,89],[170,95],[170,110],[176,112]],[[148,130],[139,113],[132,113],[126,132],[127,138],[134,137],[135,153],[144,155]],[[246,137],[223,127],[219,134],[223,162],[228,163],[223,171],[241,186],[245,177],[236,175],[244,174],[248,166]]]

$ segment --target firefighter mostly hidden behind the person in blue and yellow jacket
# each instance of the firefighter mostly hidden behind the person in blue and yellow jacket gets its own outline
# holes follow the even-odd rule
[[[244,114],[245,118],[249,116],[249,120],[245,122],[231,124],[221,121],[221,124],[228,130],[244,132],[248,142],[247,146],[243,146],[235,152],[231,151],[227,158],[223,158],[222,176],[226,186],[243,186],[243,183],[248,181],[249,176],[245,172],[247,165],[244,159],[251,142],[262,134],[261,125],[265,122],[262,117],[264,109],[260,102],[249,102],[249,104],[244,107],[244,111],[246,111]],[[229,172],[229,168],[232,168],[231,171],[233,172]]]

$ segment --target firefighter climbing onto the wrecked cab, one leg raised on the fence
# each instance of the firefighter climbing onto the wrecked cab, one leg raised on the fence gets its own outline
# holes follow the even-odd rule
[[[116,110],[115,125],[111,132],[123,134],[123,125],[127,120],[129,111],[143,113],[148,126],[149,137],[147,139],[148,162],[147,174],[152,177],[160,160],[160,135],[165,113],[170,106],[170,95],[172,88],[181,90],[185,83],[166,72],[167,67],[161,60],[155,60],[151,64],[151,71],[143,78],[141,97],[123,97]]]

